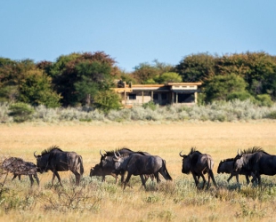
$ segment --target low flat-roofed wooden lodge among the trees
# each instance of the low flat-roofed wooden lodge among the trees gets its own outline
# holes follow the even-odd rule
[[[124,107],[141,106],[153,101],[165,106],[175,104],[196,104],[201,83],[166,83],[166,84],[130,84],[118,83],[113,88],[121,96]]]

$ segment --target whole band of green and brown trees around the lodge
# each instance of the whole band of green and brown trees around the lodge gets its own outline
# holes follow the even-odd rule
[[[154,60],[126,73],[105,52],[61,55],[56,61],[0,58],[0,102],[37,107],[120,107],[111,88],[126,83],[202,82],[199,102],[251,99],[272,105],[276,99],[276,57],[265,52],[223,56],[191,54],[173,66]]]

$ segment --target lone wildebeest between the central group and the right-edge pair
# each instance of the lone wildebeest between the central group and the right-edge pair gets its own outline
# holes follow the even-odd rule
[[[215,178],[213,173],[214,161],[211,155],[201,154],[196,148],[191,147],[191,152],[189,155],[182,155],[182,151],[179,153],[181,157],[183,157],[183,169],[182,172],[189,174],[191,172],[196,186],[199,186],[199,178],[203,179],[203,186],[205,186],[206,179],[204,174],[208,174],[208,187],[210,185],[210,178],[212,178],[214,185]]]

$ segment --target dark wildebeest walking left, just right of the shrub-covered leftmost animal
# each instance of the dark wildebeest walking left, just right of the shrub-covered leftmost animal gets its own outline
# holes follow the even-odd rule
[[[52,186],[55,177],[59,179],[61,184],[61,178],[58,171],[67,170],[75,174],[76,184],[79,185],[80,177],[84,174],[83,159],[81,155],[77,155],[75,152],[65,152],[59,147],[53,146],[43,151],[41,155],[36,155],[35,152],[34,156],[37,159],[37,171],[40,173],[48,170],[53,171]]]

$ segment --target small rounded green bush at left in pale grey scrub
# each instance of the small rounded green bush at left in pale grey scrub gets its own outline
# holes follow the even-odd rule
[[[28,121],[35,112],[34,108],[26,103],[14,103],[9,107],[9,110],[9,115],[13,117],[13,121],[16,123]]]

